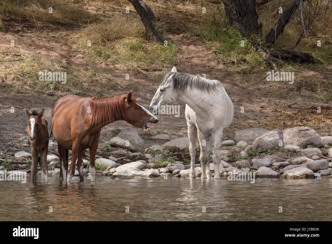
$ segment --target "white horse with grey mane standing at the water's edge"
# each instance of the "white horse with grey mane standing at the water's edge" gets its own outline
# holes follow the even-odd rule
[[[201,76],[178,73],[173,67],[160,83],[154,95],[150,110],[159,114],[162,105],[172,105],[176,101],[186,103],[189,152],[191,167],[189,177],[195,178],[196,140],[201,145],[201,178],[210,177],[209,158],[213,143],[214,179],[220,179],[220,144],[222,131],[233,120],[234,107],[222,84],[217,80]]]

